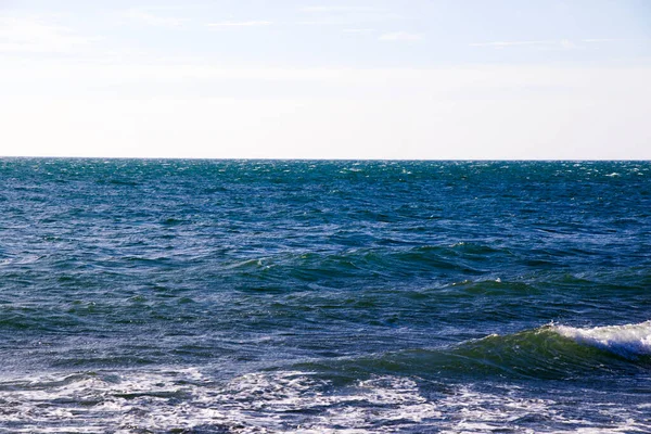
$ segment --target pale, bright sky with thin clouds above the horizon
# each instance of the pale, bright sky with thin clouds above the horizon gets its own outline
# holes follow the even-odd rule
[[[0,0],[0,155],[651,159],[651,0]]]

